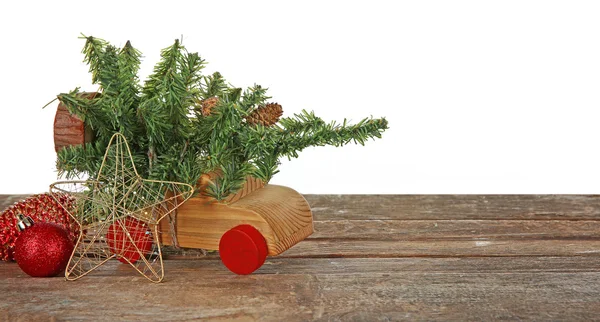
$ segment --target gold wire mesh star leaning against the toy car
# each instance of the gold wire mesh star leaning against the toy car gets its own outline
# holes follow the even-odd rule
[[[135,169],[125,137],[111,138],[95,180],[60,181],[50,185],[75,197],[63,205],[81,226],[65,271],[67,280],[87,275],[112,258],[129,263],[153,282],[164,277],[158,223],[189,199],[194,188],[185,183],[143,179]]]

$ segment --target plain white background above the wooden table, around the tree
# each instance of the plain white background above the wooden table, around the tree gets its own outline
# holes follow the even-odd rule
[[[56,180],[56,94],[93,91],[80,32],[144,53],[183,35],[285,114],[386,116],[365,147],[311,148],[272,183],[302,193],[600,192],[600,2],[2,1],[0,193]]]

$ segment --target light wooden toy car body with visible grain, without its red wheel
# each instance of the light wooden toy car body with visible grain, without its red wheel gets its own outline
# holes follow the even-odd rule
[[[249,224],[263,235],[268,254],[276,256],[313,232],[310,206],[302,195],[288,187],[256,185],[230,202],[218,203],[199,195],[177,209],[176,236],[180,247],[218,250],[221,236],[235,226]],[[160,223],[161,243],[172,245],[167,220]]]

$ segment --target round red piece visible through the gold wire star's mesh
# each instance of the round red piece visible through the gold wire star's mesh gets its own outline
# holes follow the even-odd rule
[[[125,226],[125,229],[123,229],[123,226]],[[117,254],[117,258],[121,263],[129,261],[134,264],[141,258],[140,251],[142,254],[148,254],[152,250],[152,233],[148,226],[131,217],[110,225],[106,240],[110,251]]]

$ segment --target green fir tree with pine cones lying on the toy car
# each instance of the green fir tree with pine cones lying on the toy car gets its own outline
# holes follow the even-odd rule
[[[243,90],[218,72],[203,75],[205,61],[179,40],[161,51],[141,84],[141,53],[129,41],[118,49],[99,38],[82,38],[84,61],[99,93],[90,97],[76,88],[58,99],[93,129],[95,139],[58,151],[57,168],[67,178],[97,173],[110,138],[120,132],[144,177],[196,185],[202,174],[218,173],[205,193],[222,200],[248,176],[267,183],[281,157],[296,158],[309,146],[364,145],[387,129],[385,118],[328,123],[304,110],[282,118],[281,105],[268,102],[266,88]]]

